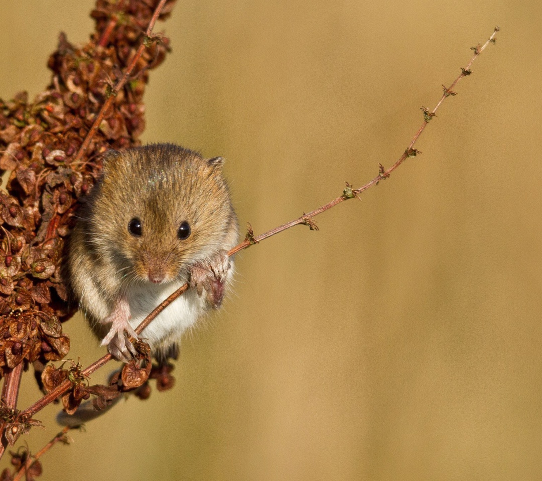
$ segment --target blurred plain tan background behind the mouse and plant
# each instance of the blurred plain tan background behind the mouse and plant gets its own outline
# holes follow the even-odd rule
[[[43,88],[58,32],[85,41],[92,5],[2,2],[0,97]],[[495,25],[423,155],[320,232],[238,255],[235,298],[186,338],[175,388],[74,432],[41,479],[540,479],[538,0],[179,0],[145,141],[227,157],[241,225],[263,232],[390,166]],[[103,352],[65,328],[71,357]]]

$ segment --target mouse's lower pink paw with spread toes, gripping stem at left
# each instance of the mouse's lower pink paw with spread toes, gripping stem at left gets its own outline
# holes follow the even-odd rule
[[[130,319],[130,307],[125,300],[120,300],[111,314],[102,321],[104,324],[111,322],[111,328],[100,344],[107,346],[107,350],[115,359],[125,363],[137,354],[130,337],[138,339],[138,335],[128,319]]]

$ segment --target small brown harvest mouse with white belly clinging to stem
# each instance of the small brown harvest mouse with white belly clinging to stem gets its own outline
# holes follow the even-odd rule
[[[185,282],[190,288],[141,333],[155,356],[218,308],[233,274],[238,225],[222,157],[172,144],[110,150],[81,208],[68,271],[94,333],[113,357],[135,353],[134,328]]]

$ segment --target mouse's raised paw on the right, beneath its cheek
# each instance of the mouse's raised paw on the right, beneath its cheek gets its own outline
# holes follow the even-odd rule
[[[217,252],[211,259],[196,262],[190,269],[190,287],[199,295],[207,295],[209,304],[218,309],[224,299],[224,285],[231,263],[227,251]]]

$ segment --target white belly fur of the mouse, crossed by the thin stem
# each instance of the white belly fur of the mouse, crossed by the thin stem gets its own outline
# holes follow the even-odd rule
[[[137,327],[152,310],[184,282],[170,282],[166,285],[134,286],[126,294],[132,317],[130,325]],[[203,296],[204,297],[204,296]],[[151,348],[169,337],[180,339],[186,329],[191,327],[205,312],[205,301],[195,289],[188,289],[160,314],[157,315],[141,333],[140,338],[149,342]]]

